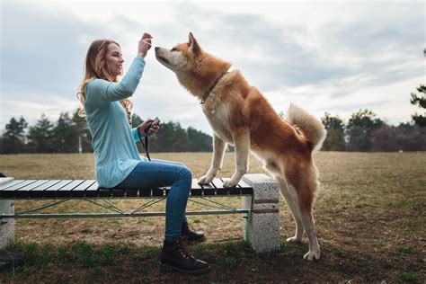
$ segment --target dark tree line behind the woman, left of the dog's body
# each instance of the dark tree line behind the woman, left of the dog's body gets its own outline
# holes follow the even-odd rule
[[[132,115],[132,127],[143,120]],[[50,121],[44,114],[35,125],[29,126],[23,117],[12,118],[0,137],[1,154],[18,153],[78,153],[93,152],[92,135],[85,118],[78,110],[62,112],[58,121]],[[213,139],[200,130],[183,129],[178,122],[162,122],[161,130],[150,139],[151,152],[210,152]],[[139,152],[144,148],[137,143]]]

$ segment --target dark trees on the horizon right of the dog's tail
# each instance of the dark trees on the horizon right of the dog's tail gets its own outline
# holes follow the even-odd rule
[[[417,87],[419,93],[411,93],[410,102],[426,108],[426,86]],[[397,111],[397,110],[395,110]],[[387,125],[370,110],[359,110],[351,114],[345,124],[337,115],[325,112],[323,121],[327,129],[324,140],[325,151],[425,151],[426,115],[412,115],[413,123]]]

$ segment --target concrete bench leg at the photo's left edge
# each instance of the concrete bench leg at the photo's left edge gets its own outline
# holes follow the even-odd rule
[[[13,182],[13,178],[0,178],[0,185]],[[13,214],[13,200],[0,200],[0,214]],[[0,249],[13,243],[14,240],[14,219],[0,218]]]

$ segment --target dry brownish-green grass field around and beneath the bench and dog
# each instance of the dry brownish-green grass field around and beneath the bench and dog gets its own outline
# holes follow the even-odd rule
[[[210,154],[152,154],[187,164],[194,177],[209,168]],[[15,179],[93,179],[93,155],[0,155],[0,172]],[[220,177],[229,177],[226,155]],[[251,157],[250,173],[262,173]],[[322,256],[306,262],[307,240],[286,244],[294,222],[280,200],[281,246],[256,254],[243,242],[241,216],[196,216],[209,237],[190,250],[210,263],[203,276],[165,273],[157,267],[163,217],[19,219],[15,247],[22,267],[0,271],[0,282],[425,282],[426,153],[337,153],[315,156],[321,189],[315,220]],[[138,200],[117,200],[132,208]],[[238,199],[225,200],[237,204]],[[33,206],[16,201],[16,209]],[[191,205],[191,204],[190,204]],[[159,204],[158,207],[163,207]],[[192,206],[192,205],[191,205]],[[92,209],[73,201],[55,209]]]

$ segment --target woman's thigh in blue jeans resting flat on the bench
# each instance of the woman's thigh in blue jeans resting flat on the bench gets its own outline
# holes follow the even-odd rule
[[[140,189],[171,186],[180,172],[188,170],[183,164],[164,162],[155,160],[140,162],[117,187]]]

